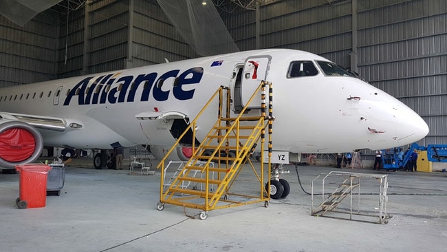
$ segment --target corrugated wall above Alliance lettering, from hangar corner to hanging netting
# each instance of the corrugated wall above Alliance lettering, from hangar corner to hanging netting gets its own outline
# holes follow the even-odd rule
[[[66,15],[61,22],[65,19]],[[59,78],[76,76],[79,72],[91,74],[152,65],[164,62],[165,58],[179,61],[197,56],[155,0],[94,1],[70,13],[68,19],[60,30]],[[68,41],[67,65],[65,41]]]

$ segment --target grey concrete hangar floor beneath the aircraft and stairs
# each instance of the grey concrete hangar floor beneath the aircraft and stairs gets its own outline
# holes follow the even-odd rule
[[[0,174],[0,251],[345,252],[446,251],[447,247],[445,173],[342,169],[388,175],[386,209],[393,218],[388,224],[373,224],[311,216],[312,198],[299,186],[294,166],[283,175],[291,187],[287,198],[271,200],[267,208],[260,202],[217,209],[199,220],[196,209],[166,204],[157,211],[159,171],[155,176],[138,171],[129,176],[127,170],[71,165],[65,169],[61,196],[47,196],[43,208],[17,209],[19,174]],[[334,170],[297,168],[308,192],[318,174]],[[250,172],[244,169],[235,187],[248,187]],[[318,183],[315,191],[320,192]],[[362,193],[375,195],[362,195],[360,209],[378,215],[378,182],[361,183]],[[316,199],[321,201],[321,196]]]

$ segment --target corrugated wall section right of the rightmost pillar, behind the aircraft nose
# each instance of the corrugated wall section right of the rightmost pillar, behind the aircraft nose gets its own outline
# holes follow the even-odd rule
[[[359,72],[426,120],[419,145],[447,143],[447,3],[358,1]]]

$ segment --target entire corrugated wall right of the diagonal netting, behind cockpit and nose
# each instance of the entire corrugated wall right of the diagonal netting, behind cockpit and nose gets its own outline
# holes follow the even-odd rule
[[[353,20],[352,4],[357,3]],[[260,8],[261,48],[306,50],[351,66],[357,43],[358,72],[426,120],[420,145],[447,143],[447,1],[301,0]],[[253,10],[224,17],[241,50],[255,49]],[[353,22],[357,36],[353,38]]]

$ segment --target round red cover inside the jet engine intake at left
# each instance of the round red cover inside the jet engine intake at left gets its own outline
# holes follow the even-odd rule
[[[12,128],[0,133],[0,158],[21,162],[32,156],[36,149],[34,136],[26,129]]]

